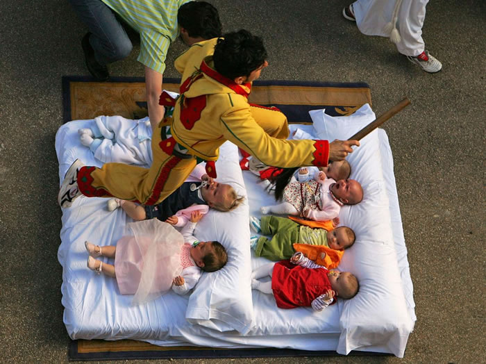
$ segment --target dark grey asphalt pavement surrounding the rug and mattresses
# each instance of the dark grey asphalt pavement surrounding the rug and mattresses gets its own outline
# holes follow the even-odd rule
[[[285,362],[485,363],[486,2],[430,1],[423,36],[444,66],[438,74],[412,65],[389,40],[362,35],[342,17],[344,0],[211,2],[225,31],[246,28],[263,38],[263,80],[366,82],[377,115],[403,97],[412,101],[383,126],[417,305],[405,358]],[[88,74],[86,28],[61,0],[2,0],[0,19],[0,361],[65,363],[54,136],[61,76]],[[112,76],[143,76],[138,49],[110,65]],[[173,62],[184,49],[180,41],[169,49],[166,77],[178,76]]]

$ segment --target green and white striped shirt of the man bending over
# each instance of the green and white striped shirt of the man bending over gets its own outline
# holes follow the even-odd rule
[[[102,0],[140,33],[137,60],[164,73],[165,57],[178,36],[177,11],[191,0]]]

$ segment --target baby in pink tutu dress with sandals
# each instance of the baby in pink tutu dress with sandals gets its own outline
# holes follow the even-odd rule
[[[196,286],[202,271],[215,272],[228,260],[219,242],[199,242],[192,235],[201,217],[193,211],[181,233],[151,219],[128,224],[131,235],[122,237],[116,246],[85,242],[90,254],[87,267],[117,279],[122,295],[135,295],[134,304],[155,299],[170,288],[183,295]],[[97,256],[115,258],[115,264],[93,258]]]

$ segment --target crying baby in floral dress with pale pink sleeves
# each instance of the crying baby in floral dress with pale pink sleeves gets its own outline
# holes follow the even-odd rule
[[[262,214],[268,213],[300,215],[310,220],[333,220],[343,205],[355,205],[363,199],[363,189],[354,179],[335,181],[328,179],[325,172],[316,174],[306,183],[277,183],[276,199],[284,202],[275,206],[262,206]]]

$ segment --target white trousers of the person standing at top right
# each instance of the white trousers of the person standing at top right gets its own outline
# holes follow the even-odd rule
[[[383,28],[392,22],[396,1],[389,0],[358,0],[353,3],[356,25],[360,32],[366,35],[388,37]],[[422,39],[426,5],[428,0],[401,0],[398,10],[396,28],[399,30],[401,42],[396,48],[405,56],[418,56],[425,50]]]

